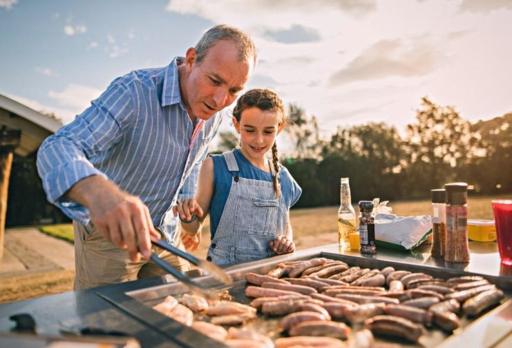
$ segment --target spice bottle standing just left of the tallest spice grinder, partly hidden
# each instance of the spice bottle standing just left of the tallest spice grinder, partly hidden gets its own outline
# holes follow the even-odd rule
[[[432,194],[432,256],[441,257],[446,248],[446,190],[431,190]]]

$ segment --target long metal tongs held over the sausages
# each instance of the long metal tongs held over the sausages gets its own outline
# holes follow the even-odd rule
[[[168,252],[171,252],[175,254],[176,256],[179,256],[180,258],[184,258],[185,260],[189,261],[193,265],[198,266],[201,269],[204,269],[208,272],[208,274],[212,277],[214,277],[216,280],[219,280],[224,285],[231,285],[233,284],[233,280],[231,279],[231,276],[227,275],[220,267],[217,265],[214,265],[213,263],[207,261],[207,260],[200,260],[199,258],[196,258],[196,256],[193,256],[187,252],[184,252],[183,250],[178,249],[174,245],[171,245],[164,240],[151,240],[151,243],[154,245],[158,245],[158,247],[161,247],[162,249],[166,249]],[[201,285],[197,284],[191,278],[188,276],[185,276],[182,274],[182,272],[178,271],[178,269],[172,267],[169,265],[169,263],[166,263],[162,258],[158,257],[154,252],[151,252],[151,260],[153,260],[154,263],[156,263],[158,266],[162,267],[165,271],[169,272],[172,276],[174,276],[176,279],[181,280],[183,283],[185,283],[191,290],[196,291],[203,296],[206,296],[207,298],[211,298],[214,294],[212,291],[208,291],[207,289],[203,289]]]

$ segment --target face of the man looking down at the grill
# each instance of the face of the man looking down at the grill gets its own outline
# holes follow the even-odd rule
[[[207,120],[231,105],[252,74],[254,64],[239,61],[236,46],[231,41],[218,41],[209,48],[200,63],[196,50],[190,48],[185,57],[188,79],[182,98],[191,116]]]

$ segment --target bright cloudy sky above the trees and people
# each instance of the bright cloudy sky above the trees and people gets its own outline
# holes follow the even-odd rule
[[[0,94],[68,123],[220,23],[256,43],[247,88],[275,90],[324,135],[403,132],[422,96],[471,122],[512,112],[512,0],[0,0]]]

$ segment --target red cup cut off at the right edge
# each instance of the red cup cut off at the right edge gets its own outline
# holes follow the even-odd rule
[[[512,200],[493,200],[492,205],[497,249],[500,251],[502,264],[512,266]]]

